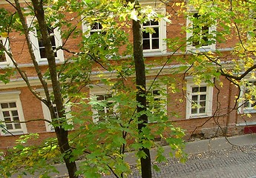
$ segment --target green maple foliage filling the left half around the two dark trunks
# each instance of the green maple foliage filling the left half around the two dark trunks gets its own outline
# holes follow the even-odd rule
[[[128,50],[131,49],[125,30],[122,28],[125,28],[129,20],[134,19],[133,23],[137,24],[137,29],[141,33],[140,21],[145,16],[139,16],[139,13],[136,13],[140,8],[134,9],[136,7],[134,3],[123,3],[123,1],[113,1],[111,4],[109,1],[96,0],[82,2],[33,0],[31,3],[25,4],[26,8],[23,8],[24,4],[18,0],[15,0],[14,3],[7,1],[7,3],[13,7],[11,10],[13,14],[6,10],[1,11],[4,12],[1,13],[1,17],[3,16],[1,19],[4,21],[4,26],[1,26],[1,36],[9,36],[12,30],[18,30],[24,35],[33,68],[42,84],[45,98],[40,96],[30,85],[27,73],[19,67],[19,62],[16,62],[12,53],[4,47],[4,44],[0,43],[0,47],[10,57],[17,73],[22,76],[31,93],[49,108],[52,120],[45,121],[53,125],[56,139],[47,139],[42,145],[27,146],[26,144],[30,142],[31,138],[39,139],[40,137],[36,134],[22,136],[17,141],[16,147],[9,152],[10,156],[16,156],[9,158],[7,155],[4,162],[1,162],[2,170],[5,170],[1,172],[2,176],[9,177],[10,174],[17,171],[21,175],[27,174],[27,172],[35,174],[39,168],[42,168],[40,174],[47,177],[49,171],[56,171],[50,163],[56,161],[56,156],[61,156],[68,169],[69,177],[78,177],[79,174],[84,174],[86,177],[100,177],[102,173],[108,174],[110,171],[116,177],[125,177],[131,171],[130,166],[125,162],[125,151],[134,150],[137,151],[138,158],[142,160],[143,177],[151,177],[149,149],[157,147],[157,161],[165,160],[163,148],[154,142],[154,138],[157,136],[165,139],[176,151],[177,156],[182,156],[183,131],[180,128],[174,128],[171,122],[168,122],[166,112],[163,111],[155,115],[149,109],[146,110],[147,93],[141,42],[139,42],[140,51],[134,52],[135,63],[140,62],[135,68],[137,72],[142,71],[142,78],[137,73],[138,92],[134,93],[134,90],[128,88],[128,84],[125,83],[127,79],[131,79],[131,74],[134,73],[134,64],[132,61],[125,62],[122,59],[122,56],[126,56],[129,53]],[[71,20],[69,14],[73,15]],[[154,14],[155,16],[152,16],[151,19],[157,18],[156,13]],[[27,24],[27,16],[33,17],[33,26],[37,28],[36,35],[42,37],[48,64],[47,71],[42,69],[36,61],[33,43],[30,39],[30,30],[33,30],[33,27]],[[140,21],[137,16],[140,17]],[[82,33],[79,29],[79,25],[84,22],[89,25],[102,24],[102,33],[86,36],[90,30],[85,30]],[[62,29],[62,38],[65,41],[56,49],[52,47],[50,41],[49,27]],[[134,28],[134,35],[136,35],[137,29]],[[79,49],[69,49],[68,40],[79,39],[81,33],[82,43],[79,44]],[[136,42],[134,42],[135,44]],[[120,54],[118,49],[124,45],[128,50]],[[56,64],[55,53],[57,50],[65,50],[70,54],[64,64]],[[111,72],[116,70],[116,82],[109,81],[108,78],[103,78],[101,81],[111,86],[113,94],[105,102],[93,100],[93,98],[88,100],[86,93],[82,92],[90,81],[93,67],[101,67],[100,70]],[[4,79],[8,79],[9,76],[10,73],[6,73]],[[142,80],[140,81],[140,79]],[[53,88],[52,93],[50,88]],[[128,100],[127,96],[131,96],[129,97],[131,100]],[[148,101],[153,100],[150,97],[148,96]],[[65,99],[68,99],[68,103],[64,102]],[[55,105],[57,112],[54,110]],[[67,117],[70,113],[65,111],[65,105],[72,105],[74,108],[71,118]],[[102,117],[103,122],[95,123],[91,120],[91,116],[95,116],[91,113],[91,105],[98,111],[101,111],[102,108],[116,108],[116,110],[104,113],[103,116],[96,115]],[[154,130],[151,129],[151,124],[147,123],[147,117],[151,118],[152,122],[157,121]],[[73,126],[68,123],[68,119],[72,119],[73,125],[76,127],[74,131],[71,131],[70,136],[69,130]],[[27,122],[38,120],[42,119]],[[13,159],[16,160],[15,163]],[[75,162],[77,159],[82,159],[79,170],[77,170]],[[13,162],[11,166],[10,162]],[[8,169],[6,169],[7,166]],[[22,172],[19,171],[21,166],[24,166]]]

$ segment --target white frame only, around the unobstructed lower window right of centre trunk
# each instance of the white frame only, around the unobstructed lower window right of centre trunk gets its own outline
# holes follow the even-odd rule
[[[192,88],[206,87],[206,112],[205,113],[191,113],[192,109]],[[200,92],[198,92],[200,94]],[[188,80],[186,85],[186,119],[195,119],[209,117],[212,115],[212,101],[213,101],[213,87],[207,85],[205,82],[200,85],[195,85],[193,80]]]

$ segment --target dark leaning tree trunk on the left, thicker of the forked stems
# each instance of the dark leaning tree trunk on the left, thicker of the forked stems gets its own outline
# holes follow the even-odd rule
[[[55,127],[55,133],[58,139],[59,143],[59,149],[62,154],[64,154],[64,161],[66,164],[66,167],[68,168],[68,174],[70,178],[76,178],[76,162],[71,162],[70,157],[71,157],[71,148],[68,142],[68,131],[65,131],[64,128],[62,128],[62,125],[67,122],[65,119],[65,109],[63,105],[63,99],[62,99],[62,92],[61,92],[61,87],[60,87],[60,82],[57,76],[57,70],[56,70],[56,59],[54,56],[53,52],[53,47],[50,42],[50,36],[47,30],[47,24],[45,22],[45,12],[43,10],[43,4],[42,1],[38,0],[32,0],[33,7],[34,7],[34,13],[36,15],[36,19],[39,22],[39,30],[42,35],[42,41],[45,45],[45,51],[46,51],[46,57],[47,57],[47,62],[49,66],[49,71],[50,71],[50,79],[52,82],[52,87],[53,87],[53,95],[54,95],[54,102],[56,104],[57,112],[59,119],[59,125]],[[50,109],[50,115],[52,118],[56,118],[56,114],[53,111],[52,105],[49,107]]]

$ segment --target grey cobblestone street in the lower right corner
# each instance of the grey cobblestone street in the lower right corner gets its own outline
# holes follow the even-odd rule
[[[188,156],[185,164],[176,159],[159,165],[161,171],[153,172],[157,178],[249,178],[256,176],[256,145],[246,145],[229,150],[209,151]],[[139,171],[129,177],[139,178]]]

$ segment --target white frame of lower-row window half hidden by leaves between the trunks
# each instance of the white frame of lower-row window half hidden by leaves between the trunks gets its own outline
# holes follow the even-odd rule
[[[92,88],[90,88],[90,98],[95,98],[97,95],[108,95],[114,93],[111,93],[111,90],[108,86],[103,85],[92,85]],[[117,105],[114,106],[113,110],[116,111]],[[98,111],[96,109],[91,108],[91,111],[93,112],[93,122],[99,122],[99,118],[97,117]]]

